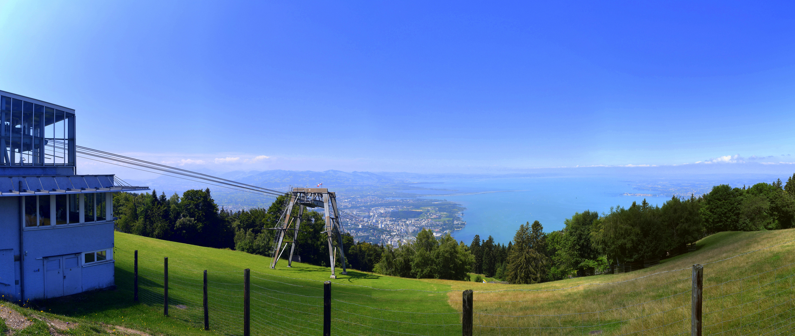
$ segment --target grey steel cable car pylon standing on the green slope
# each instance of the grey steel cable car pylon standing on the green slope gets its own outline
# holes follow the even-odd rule
[[[345,269],[345,252],[343,251],[343,236],[342,227],[339,224],[339,210],[337,209],[336,194],[328,191],[326,188],[293,188],[290,189],[290,199],[287,209],[285,209],[284,222],[281,223],[281,228],[266,228],[277,230],[276,246],[273,250],[273,260],[270,263],[270,268],[276,268],[276,263],[281,258],[281,253],[284,253],[287,244],[290,244],[290,254],[287,259],[287,267],[293,267],[293,252],[295,252],[296,243],[298,240],[298,232],[301,231],[301,217],[304,215],[304,208],[320,208],[323,207],[326,215],[326,226],[324,232],[328,240],[328,259],[331,263],[332,275],[330,278],[336,279],[337,276],[334,272],[336,261],[336,248],[334,248],[332,241],[336,236],[339,242],[339,258],[343,263],[343,275],[347,275]],[[298,206],[297,216],[292,216],[293,209]],[[333,216],[332,216],[333,214]],[[285,240],[285,236],[293,233],[293,240]],[[299,260],[300,261],[300,260]]]

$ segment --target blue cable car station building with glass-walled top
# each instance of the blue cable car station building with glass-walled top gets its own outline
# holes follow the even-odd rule
[[[0,91],[0,295],[114,286],[114,175],[76,174],[75,110]]]

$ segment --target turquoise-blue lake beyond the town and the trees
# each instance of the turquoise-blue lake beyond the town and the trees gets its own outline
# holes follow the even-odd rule
[[[453,236],[471,243],[477,234],[481,239],[491,235],[507,244],[513,240],[519,225],[540,221],[545,232],[560,230],[566,218],[584,210],[604,213],[611,206],[628,207],[644,198],[651,205],[662,205],[673,194],[707,193],[712,186],[729,183],[742,187],[766,181],[770,175],[694,175],[665,178],[658,176],[627,176],[604,174],[591,176],[537,176],[524,178],[436,178],[421,184],[441,190],[405,190],[428,198],[446,199],[467,209],[463,220],[467,226]],[[629,194],[629,195],[628,195]],[[634,194],[634,195],[632,195]],[[638,196],[638,194],[640,196]],[[649,196],[653,195],[653,196]]]

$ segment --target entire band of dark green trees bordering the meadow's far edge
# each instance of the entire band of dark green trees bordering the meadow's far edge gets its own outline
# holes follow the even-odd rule
[[[273,228],[285,196],[268,209],[219,209],[210,189],[165,193],[115,193],[116,229],[157,239],[270,256]],[[304,213],[297,254],[308,264],[328,266],[322,213]],[[607,272],[611,265],[646,264],[687,252],[715,232],[789,229],[795,226],[795,174],[786,183],[732,188],[714,186],[701,197],[671,197],[660,205],[645,199],[606,213],[584,210],[564,229],[544,232],[540,222],[520,225],[508,244],[475,235],[471,244],[421,230],[397,247],[356,242],[343,234],[349,268],[412,278],[470,280],[471,273],[508,283],[540,283]],[[334,242],[335,246],[337,242]]]

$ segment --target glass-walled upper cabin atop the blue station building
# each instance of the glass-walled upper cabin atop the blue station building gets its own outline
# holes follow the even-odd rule
[[[75,115],[0,96],[0,166],[75,166]]]

